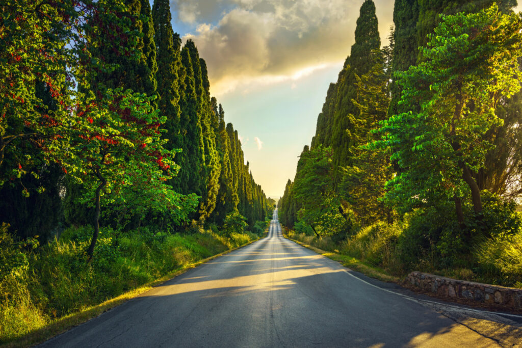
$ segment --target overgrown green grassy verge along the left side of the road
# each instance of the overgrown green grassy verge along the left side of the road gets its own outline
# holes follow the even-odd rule
[[[0,283],[0,344],[30,346],[79,325],[201,263],[256,241],[260,235],[226,238],[105,230],[93,261],[84,254],[86,229],[70,229],[29,253],[23,267]],[[22,254],[20,254],[22,255]]]

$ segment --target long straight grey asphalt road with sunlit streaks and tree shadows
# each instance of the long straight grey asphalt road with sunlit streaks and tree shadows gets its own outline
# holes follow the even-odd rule
[[[516,322],[397,292],[283,238],[276,211],[266,238],[41,346],[516,346]]]

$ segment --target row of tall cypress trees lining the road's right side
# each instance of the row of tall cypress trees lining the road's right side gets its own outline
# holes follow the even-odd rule
[[[515,0],[496,3],[504,12],[516,6]],[[403,112],[404,107],[411,107],[399,103],[401,89],[395,73],[422,62],[418,47],[426,45],[426,34],[432,33],[438,25],[440,14],[472,13],[492,4],[492,0],[396,0],[395,28],[390,33],[389,46],[383,49],[375,4],[372,0],[362,4],[350,55],[337,82],[328,88],[311,147],[305,146],[294,181],[288,180],[278,203],[283,224],[293,227],[313,208],[299,196],[296,185],[302,184],[300,171],[305,167],[305,159],[310,158],[310,152],[320,149],[331,151],[326,151],[331,156],[331,172],[323,175],[331,175],[332,192],[339,198],[336,202],[340,214],[346,217],[346,212],[351,210],[362,225],[390,220],[392,211],[384,207],[379,197],[384,194],[385,182],[399,167],[397,163],[389,162],[389,156],[375,158],[375,152],[362,146],[377,140],[371,130],[378,128],[379,121]],[[522,93],[518,92],[497,107],[496,114],[504,124],[485,135],[495,148],[487,154],[484,167],[474,173],[481,190],[508,198],[521,193],[520,185],[516,185],[517,173],[522,170],[522,130],[516,126],[522,115],[521,98]],[[320,209],[324,214],[325,207]]]

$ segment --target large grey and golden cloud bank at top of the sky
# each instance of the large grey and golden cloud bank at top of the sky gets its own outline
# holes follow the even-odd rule
[[[392,24],[393,2],[375,2],[377,17],[386,19],[379,21],[381,37],[385,38]],[[362,3],[177,0],[176,8],[180,20],[194,23],[187,13],[193,8],[198,26],[183,39],[195,41],[200,56],[207,61],[212,94],[219,96],[259,78],[268,83],[296,80],[303,76],[300,71],[344,61],[353,44]]]

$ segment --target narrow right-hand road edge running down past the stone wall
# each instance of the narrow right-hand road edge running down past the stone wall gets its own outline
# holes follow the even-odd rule
[[[508,318],[522,323],[521,314],[506,313],[504,311],[492,311],[480,307],[470,306],[468,304],[449,302],[445,301],[445,299],[430,296],[429,294],[426,294],[424,292],[413,291],[413,289],[409,289],[408,287],[402,286],[403,282],[400,278],[394,277],[393,275],[385,274],[383,272],[379,272],[378,269],[366,266],[353,257],[347,255],[340,255],[331,251],[326,251],[311,245],[307,245],[305,243],[288,237],[288,235],[284,233],[282,233],[282,235],[289,241],[299,244],[333,261],[339,262],[342,267],[346,268],[345,272],[348,275],[355,279],[358,279],[363,283],[376,287],[377,289],[380,289],[382,291],[396,294],[414,302],[443,305],[448,308],[471,311],[477,314],[502,316],[504,318]]]

